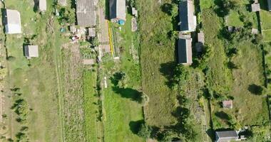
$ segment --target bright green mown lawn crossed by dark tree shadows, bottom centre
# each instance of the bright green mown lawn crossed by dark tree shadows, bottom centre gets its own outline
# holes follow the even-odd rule
[[[143,141],[136,135],[138,124],[143,121],[143,104],[140,102],[141,77],[140,66],[134,60],[131,50],[135,50],[136,33],[131,32],[131,15],[127,15],[126,24],[121,26],[121,31],[116,31],[116,49],[120,51],[120,59],[104,58],[102,64],[103,83],[103,125],[105,141]],[[138,41],[137,41],[138,42]],[[132,46],[135,45],[135,46]],[[118,88],[113,83],[115,72],[125,72],[128,80],[126,87]],[[104,87],[106,77],[107,88]]]

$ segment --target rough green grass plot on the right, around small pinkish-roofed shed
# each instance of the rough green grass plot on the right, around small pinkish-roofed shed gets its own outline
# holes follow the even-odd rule
[[[212,26],[210,26],[212,25]],[[223,20],[218,18],[213,9],[203,10],[203,30],[205,43],[211,48],[211,58],[208,62],[207,84],[214,94],[230,95],[233,97],[233,109],[222,109],[220,101],[212,99],[213,129],[226,129],[229,124],[227,116],[232,117],[240,124],[261,125],[267,120],[267,104],[265,97],[257,96],[248,91],[250,84],[263,85],[262,51],[250,40],[228,45],[217,38],[222,29]],[[234,46],[238,53],[233,58],[226,56],[227,46]],[[237,69],[230,70],[227,61],[237,65]],[[257,108],[257,109],[256,109]],[[247,113],[250,112],[250,113]]]

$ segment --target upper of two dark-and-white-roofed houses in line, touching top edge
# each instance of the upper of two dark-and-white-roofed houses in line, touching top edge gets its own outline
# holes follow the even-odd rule
[[[179,4],[180,32],[188,33],[195,31],[197,18],[194,15],[193,0],[183,0]]]

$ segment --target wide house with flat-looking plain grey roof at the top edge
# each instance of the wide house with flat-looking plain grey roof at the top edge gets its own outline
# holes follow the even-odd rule
[[[76,18],[78,26],[82,27],[96,26],[96,11],[94,0],[77,0]]]

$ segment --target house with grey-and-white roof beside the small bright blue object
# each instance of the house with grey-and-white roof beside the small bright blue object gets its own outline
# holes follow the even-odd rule
[[[123,25],[126,21],[126,0],[109,0],[109,18]]]

